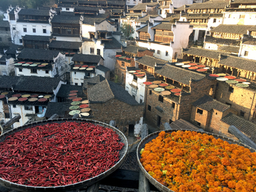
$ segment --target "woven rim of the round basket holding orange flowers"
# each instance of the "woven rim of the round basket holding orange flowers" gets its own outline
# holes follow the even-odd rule
[[[188,130],[188,129],[171,129],[171,130],[165,130],[165,132],[166,133],[171,133],[171,132],[176,132],[178,130],[181,130],[181,131],[191,131],[191,130]],[[142,166],[141,162],[139,161],[139,159],[142,158],[142,156],[140,154],[140,151],[145,147],[145,144],[151,142],[151,140],[153,140],[153,139],[156,139],[156,137],[158,137],[160,132],[162,132],[162,131],[154,132],[152,134],[149,134],[144,139],[142,139],[142,141],[139,143],[139,146],[137,147],[137,161],[138,161],[138,164],[139,164],[139,168],[142,170],[142,173],[144,174],[144,176],[159,191],[161,191],[161,192],[175,192],[175,191],[172,191],[171,189],[167,188],[166,186],[162,185],[161,183],[159,183],[159,181],[156,181],[156,179],[154,179],[152,176],[150,176],[149,173]],[[223,137],[222,135],[208,133],[208,132],[200,132],[200,131],[193,131],[193,132],[198,132],[198,133],[201,133],[201,134],[209,134],[209,135],[212,135],[213,137],[215,137],[216,139],[223,139],[224,141],[229,142],[230,144],[239,144],[240,146],[244,146],[245,148],[250,149],[251,152],[255,152],[256,151],[255,149],[253,149],[250,146],[247,146],[246,144],[243,144],[243,143],[241,143],[239,141],[235,141],[234,139],[230,139],[228,137]]]

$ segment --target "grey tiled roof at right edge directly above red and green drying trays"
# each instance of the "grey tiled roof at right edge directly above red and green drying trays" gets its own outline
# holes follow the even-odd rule
[[[232,68],[256,72],[256,60],[240,58],[230,55],[228,57],[222,57],[218,63],[221,65],[230,66]]]

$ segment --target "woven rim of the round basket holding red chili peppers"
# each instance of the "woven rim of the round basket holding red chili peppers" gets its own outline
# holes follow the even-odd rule
[[[8,137],[11,134],[14,134],[15,132],[22,131],[24,129],[33,127],[33,126],[38,126],[38,125],[43,125],[43,124],[49,124],[49,123],[63,123],[63,122],[90,122],[93,124],[98,124],[102,127],[107,127],[110,129],[113,129],[116,134],[119,135],[120,142],[124,143],[123,148],[121,151],[119,151],[119,161],[117,161],[114,166],[112,166],[110,169],[107,171],[103,172],[102,174],[99,174],[97,176],[94,176],[92,178],[89,178],[85,181],[81,181],[78,183],[73,183],[65,186],[50,186],[50,187],[41,187],[41,186],[26,186],[26,185],[20,185],[18,183],[13,183],[10,181],[5,180],[4,178],[0,178],[0,184],[2,186],[5,186],[7,188],[14,189],[16,191],[71,191],[71,190],[76,190],[78,188],[86,188],[87,186],[91,186],[93,183],[96,183],[97,181],[102,180],[102,178],[105,178],[112,174],[114,171],[116,171],[119,166],[122,166],[124,163],[126,156],[127,156],[127,151],[128,151],[128,142],[126,137],[122,132],[119,131],[119,129],[111,126],[110,124],[106,124],[104,122],[98,122],[96,120],[90,120],[90,119],[76,119],[76,118],[67,118],[67,119],[48,119],[48,120],[43,120],[43,121],[38,121],[38,122],[33,122],[31,124],[26,124],[21,127],[17,127],[15,129],[11,129],[9,132],[6,132],[0,136],[0,142],[4,142],[6,137]]]

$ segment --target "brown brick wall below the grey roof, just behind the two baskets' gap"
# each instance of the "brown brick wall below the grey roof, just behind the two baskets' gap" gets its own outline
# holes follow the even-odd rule
[[[112,99],[105,103],[90,103],[90,109],[92,110],[92,119],[106,123],[114,120],[119,127],[135,124],[139,121],[140,117],[143,117],[144,105],[132,106]]]

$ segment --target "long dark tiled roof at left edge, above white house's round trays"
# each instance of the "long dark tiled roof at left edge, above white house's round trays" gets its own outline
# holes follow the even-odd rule
[[[46,78],[36,76],[2,76],[0,75],[0,88],[19,92],[48,92],[58,86],[59,78]]]

